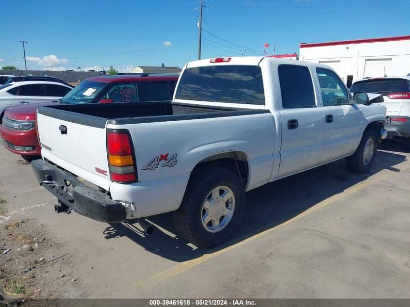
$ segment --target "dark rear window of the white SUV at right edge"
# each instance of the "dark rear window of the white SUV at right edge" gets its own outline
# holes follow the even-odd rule
[[[350,93],[364,92],[388,95],[392,93],[409,93],[409,81],[404,79],[376,79],[359,81],[353,84]]]

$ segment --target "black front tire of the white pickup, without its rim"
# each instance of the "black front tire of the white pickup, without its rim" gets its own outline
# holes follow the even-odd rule
[[[366,145],[366,142],[369,139],[373,140],[373,155],[372,158],[370,159],[370,161],[365,164],[363,162],[363,152],[364,152],[364,148]],[[377,131],[374,129],[370,129],[368,131],[365,131],[363,134],[363,137],[361,138],[360,144],[358,146],[358,148],[356,149],[355,153],[353,155],[351,155],[350,157],[346,158],[346,166],[347,169],[351,172],[355,172],[355,173],[367,173],[370,168],[372,167],[373,163],[375,162],[375,158],[376,158],[376,153],[377,153],[377,144],[378,144],[378,134]]]

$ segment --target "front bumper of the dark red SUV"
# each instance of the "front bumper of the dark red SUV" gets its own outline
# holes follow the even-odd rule
[[[41,155],[36,129],[16,131],[0,125],[0,135],[4,147],[17,155]]]

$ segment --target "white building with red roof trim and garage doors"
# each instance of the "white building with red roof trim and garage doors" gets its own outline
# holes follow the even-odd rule
[[[410,73],[410,35],[305,44],[299,60],[332,67],[350,85],[366,77]]]

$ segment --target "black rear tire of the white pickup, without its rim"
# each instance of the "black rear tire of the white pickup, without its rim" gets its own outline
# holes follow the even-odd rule
[[[235,207],[228,224],[219,232],[202,225],[202,204],[218,186],[228,187]],[[180,208],[174,211],[174,224],[180,235],[198,247],[209,248],[227,240],[238,228],[245,209],[245,189],[241,178],[222,167],[201,168],[191,175]]]

